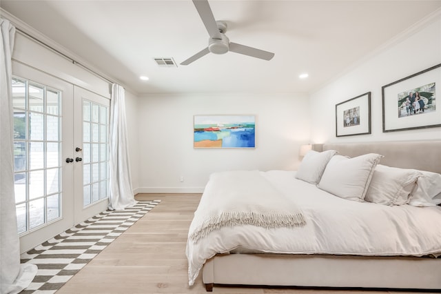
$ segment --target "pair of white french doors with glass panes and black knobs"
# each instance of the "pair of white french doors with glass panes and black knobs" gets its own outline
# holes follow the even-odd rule
[[[109,100],[16,61],[12,74],[23,253],[107,207]]]

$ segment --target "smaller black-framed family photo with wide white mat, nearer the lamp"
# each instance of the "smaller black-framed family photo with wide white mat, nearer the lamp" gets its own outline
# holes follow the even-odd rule
[[[336,105],[336,136],[371,133],[371,92]]]

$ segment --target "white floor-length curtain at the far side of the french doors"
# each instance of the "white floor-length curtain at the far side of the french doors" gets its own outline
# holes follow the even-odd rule
[[[109,209],[121,210],[136,204],[130,176],[125,119],[125,90],[112,85],[110,101],[110,194]]]

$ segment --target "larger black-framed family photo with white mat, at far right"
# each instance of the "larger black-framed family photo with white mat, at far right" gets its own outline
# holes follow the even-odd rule
[[[441,126],[441,63],[382,86],[383,133]]]

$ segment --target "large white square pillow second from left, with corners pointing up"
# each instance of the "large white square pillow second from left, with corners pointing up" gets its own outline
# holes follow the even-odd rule
[[[381,157],[376,153],[353,158],[335,155],[329,160],[318,188],[341,198],[362,202]]]

